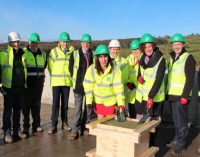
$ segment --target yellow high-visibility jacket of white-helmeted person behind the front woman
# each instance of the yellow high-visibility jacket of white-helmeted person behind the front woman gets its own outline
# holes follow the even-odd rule
[[[122,78],[122,83],[125,85],[128,81],[128,72],[129,72],[129,67],[127,60],[124,57],[116,56],[114,58],[114,63],[120,68],[121,70],[121,78]]]

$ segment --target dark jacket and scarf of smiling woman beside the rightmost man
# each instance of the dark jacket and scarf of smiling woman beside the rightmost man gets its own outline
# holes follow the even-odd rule
[[[154,67],[158,61],[160,60],[161,57],[163,57],[162,52],[159,50],[158,47],[156,47],[156,49],[154,50],[154,53],[152,54],[152,56],[150,56],[150,60],[149,62],[146,64],[145,63],[145,53],[143,53],[141,59],[140,59],[140,66],[143,69],[147,69],[147,68],[152,68]],[[160,86],[162,84],[162,81],[164,79],[165,76],[165,69],[166,69],[166,62],[165,59],[163,58],[158,66],[158,70],[156,73],[156,78],[155,78],[155,82],[149,92],[148,97],[149,98],[154,98],[154,96],[157,94],[157,92],[160,89]],[[139,70],[139,74],[138,77],[141,76],[140,70]],[[145,81],[145,80],[144,80]]]

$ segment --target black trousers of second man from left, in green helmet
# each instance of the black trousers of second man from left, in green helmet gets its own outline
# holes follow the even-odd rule
[[[36,131],[40,127],[40,109],[43,88],[26,88],[24,92],[24,104],[22,113],[24,115],[24,129],[30,127],[30,112],[33,118],[32,130]]]

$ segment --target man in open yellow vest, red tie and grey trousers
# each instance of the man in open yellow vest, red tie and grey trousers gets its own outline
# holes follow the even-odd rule
[[[89,123],[91,109],[87,108],[84,102],[84,111],[82,116],[82,106],[85,96],[83,89],[83,80],[86,70],[93,63],[93,52],[90,48],[92,39],[89,34],[83,34],[81,37],[81,48],[74,51],[70,56],[69,71],[73,80],[73,90],[75,99],[74,120],[72,131],[68,138],[74,140],[78,138],[79,132],[88,134],[85,124]]]

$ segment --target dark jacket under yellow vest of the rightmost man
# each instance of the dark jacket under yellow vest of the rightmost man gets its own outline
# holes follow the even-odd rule
[[[175,52],[174,51],[171,52],[170,57],[173,59],[173,63],[176,62],[179,59],[179,57],[185,52],[187,51],[185,50],[185,48],[183,48],[181,53],[176,59],[175,59],[175,56],[176,56]],[[192,55],[189,55],[185,63],[186,81],[185,81],[183,93],[181,96],[167,95],[167,99],[169,101],[179,101],[181,97],[190,99],[190,91],[192,90],[193,84],[194,84],[195,67],[196,67],[196,61]]]

